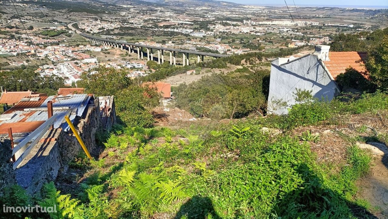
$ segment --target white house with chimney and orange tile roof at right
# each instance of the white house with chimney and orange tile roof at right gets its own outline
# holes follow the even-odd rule
[[[330,46],[317,45],[315,52],[298,58],[277,58],[271,63],[268,113],[287,114],[294,104],[297,90],[311,90],[311,94],[329,101],[340,93],[336,76],[352,67],[366,71],[361,52],[329,52]]]

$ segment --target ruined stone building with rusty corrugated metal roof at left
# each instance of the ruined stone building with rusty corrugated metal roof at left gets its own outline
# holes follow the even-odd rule
[[[113,96],[74,93],[66,90],[66,95],[24,96],[0,115],[0,137],[10,138],[2,149],[12,148],[12,154],[4,153],[10,156],[12,176],[30,194],[54,181],[59,172],[65,172],[68,163],[82,150],[65,115],[89,151],[96,147],[96,135],[109,131],[116,122]],[[0,166],[9,167],[4,159],[1,162]]]

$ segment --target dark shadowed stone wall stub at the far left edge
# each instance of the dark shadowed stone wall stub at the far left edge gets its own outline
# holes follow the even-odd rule
[[[3,195],[4,188],[16,183],[15,173],[12,169],[11,142],[9,139],[0,137],[0,197]]]

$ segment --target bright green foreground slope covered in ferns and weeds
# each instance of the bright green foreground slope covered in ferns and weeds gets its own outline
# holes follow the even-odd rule
[[[293,127],[295,121],[341,125],[343,116],[375,115],[387,103],[380,93],[342,106],[312,104],[316,110],[307,117],[304,110],[312,109],[300,106],[288,117],[180,129],[119,127],[74,189],[74,197],[89,206],[75,212],[101,218],[369,218],[373,209],[355,196],[355,182],[371,162],[367,151],[354,146],[360,138],[343,135],[343,162],[317,162],[310,144],[320,138],[294,134]],[[331,107],[349,112],[327,115]],[[283,128],[279,133],[263,127]],[[78,159],[73,167],[88,165],[84,162]]]

